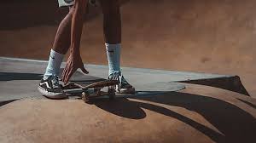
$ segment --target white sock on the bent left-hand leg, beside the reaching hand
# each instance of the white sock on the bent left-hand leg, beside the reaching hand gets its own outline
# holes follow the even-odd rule
[[[59,76],[61,62],[64,58],[64,54],[55,52],[53,49],[50,50],[49,62],[44,73],[44,80],[50,76]]]

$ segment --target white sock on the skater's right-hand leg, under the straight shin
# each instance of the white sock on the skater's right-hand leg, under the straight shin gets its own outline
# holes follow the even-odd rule
[[[120,54],[121,54],[121,44],[109,44],[105,43],[108,55],[108,67],[109,75],[113,75],[115,72],[120,72]]]

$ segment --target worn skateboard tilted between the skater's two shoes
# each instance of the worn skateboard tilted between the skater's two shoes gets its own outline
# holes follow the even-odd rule
[[[110,100],[115,98],[115,86],[118,80],[104,80],[96,83],[68,83],[63,87],[66,94],[79,95],[84,102],[90,102],[101,96],[108,96]],[[104,91],[102,90],[104,89]],[[107,90],[107,91],[106,91]]]

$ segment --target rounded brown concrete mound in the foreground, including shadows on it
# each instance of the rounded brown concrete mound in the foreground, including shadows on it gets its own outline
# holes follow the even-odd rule
[[[0,142],[253,142],[256,100],[190,85],[154,98],[18,100],[0,107]]]

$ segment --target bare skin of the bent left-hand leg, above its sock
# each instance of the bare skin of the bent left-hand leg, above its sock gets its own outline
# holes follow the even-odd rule
[[[69,13],[66,15],[66,17],[61,20],[61,24],[55,35],[55,41],[52,49],[60,54],[67,54],[67,50],[70,47],[72,16],[73,7],[69,9]]]

